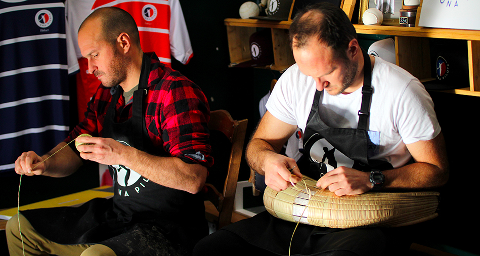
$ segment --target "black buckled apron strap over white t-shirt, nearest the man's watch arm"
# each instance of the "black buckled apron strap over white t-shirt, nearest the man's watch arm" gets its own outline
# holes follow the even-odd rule
[[[362,48],[360,48],[362,49]],[[364,68],[363,68],[363,87],[362,87],[362,105],[358,111],[357,129],[367,131],[368,116],[370,115],[370,100],[372,99],[372,64],[367,51],[362,49]]]

